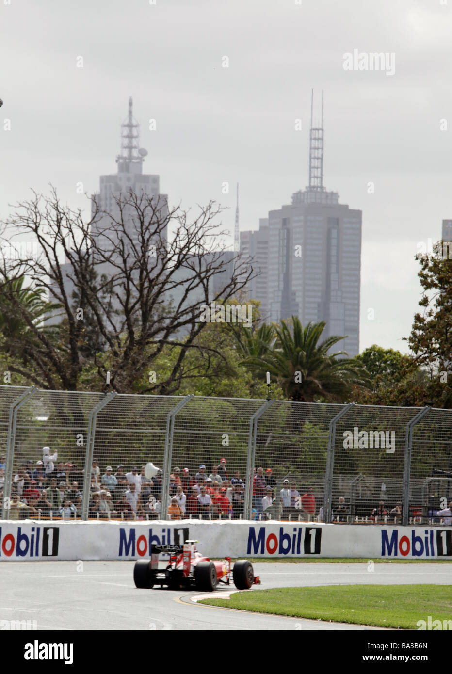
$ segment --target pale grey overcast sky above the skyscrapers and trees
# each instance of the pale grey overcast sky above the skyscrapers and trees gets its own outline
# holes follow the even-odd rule
[[[48,183],[86,208],[77,183],[92,193],[116,172],[133,96],[143,171],[170,204],[217,200],[232,232],[238,182],[240,229],[257,228],[308,183],[311,88],[323,88],[324,185],[362,210],[360,350],[406,350],[417,245],[452,218],[452,0],[8,1],[0,218]],[[354,49],[393,54],[394,73],[345,70]]]

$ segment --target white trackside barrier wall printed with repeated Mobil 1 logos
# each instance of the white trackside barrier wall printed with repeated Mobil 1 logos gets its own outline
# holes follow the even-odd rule
[[[452,528],[285,522],[0,520],[0,561],[140,559],[152,543],[199,541],[207,557],[452,559]]]

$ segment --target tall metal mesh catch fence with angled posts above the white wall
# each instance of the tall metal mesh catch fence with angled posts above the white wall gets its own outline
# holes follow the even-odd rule
[[[448,524],[452,410],[0,386],[0,495],[3,519]]]

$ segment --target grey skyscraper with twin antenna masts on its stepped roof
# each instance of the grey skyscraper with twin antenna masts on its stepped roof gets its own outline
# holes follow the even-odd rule
[[[281,321],[293,314],[303,326],[325,321],[323,338],[346,336],[334,350],[350,357],[359,353],[361,218],[360,210],[340,204],[337,192],[323,186],[322,92],[317,125],[311,98],[309,185],[292,194],[290,204],[271,210],[261,233],[267,237],[266,292],[256,286],[249,297],[267,307],[264,319]],[[242,233],[244,252],[256,235]]]

